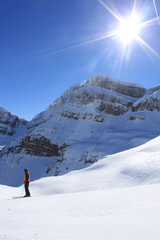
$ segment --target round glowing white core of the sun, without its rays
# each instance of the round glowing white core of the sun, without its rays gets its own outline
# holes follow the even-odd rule
[[[131,15],[126,19],[122,19],[118,29],[118,37],[124,44],[129,44],[137,39],[140,34],[140,20],[137,15]]]

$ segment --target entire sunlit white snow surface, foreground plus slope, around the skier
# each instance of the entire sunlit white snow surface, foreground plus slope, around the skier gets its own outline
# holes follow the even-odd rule
[[[0,185],[0,239],[158,240],[159,159],[157,137],[87,169],[33,181],[31,198],[12,199],[22,186]]]

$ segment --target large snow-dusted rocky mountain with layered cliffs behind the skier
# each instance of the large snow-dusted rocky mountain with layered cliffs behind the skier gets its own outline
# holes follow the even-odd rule
[[[26,167],[33,180],[62,175],[158,136],[159,89],[105,74],[73,85],[32,121],[17,124],[9,143],[0,143],[0,183],[19,185]]]

